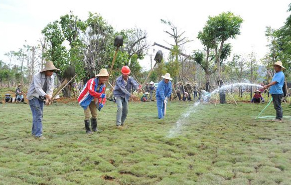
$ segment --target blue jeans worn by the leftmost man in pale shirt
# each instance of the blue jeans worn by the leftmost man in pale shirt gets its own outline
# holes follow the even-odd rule
[[[42,116],[43,116],[43,101],[37,98],[28,100],[32,112],[32,129],[31,134],[35,137],[42,136]]]

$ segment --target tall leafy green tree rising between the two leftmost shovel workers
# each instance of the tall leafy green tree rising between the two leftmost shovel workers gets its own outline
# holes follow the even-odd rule
[[[83,44],[79,38],[80,32],[84,31],[86,25],[78,16],[72,12],[60,17],[60,20],[55,20],[42,30],[44,37],[48,43],[45,58],[52,60],[54,65],[61,71],[57,73],[59,81],[64,77],[63,74],[69,66],[73,66],[76,71],[82,71],[81,53]],[[68,41],[69,48],[65,47],[65,41]],[[81,73],[81,72],[80,72]],[[64,97],[70,97],[70,86],[63,90]]]

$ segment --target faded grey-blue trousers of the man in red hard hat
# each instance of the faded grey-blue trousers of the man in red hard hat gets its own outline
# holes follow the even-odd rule
[[[115,98],[117,104],[116,125],[123,125],[128,113],[128,101],[125,98]]]

